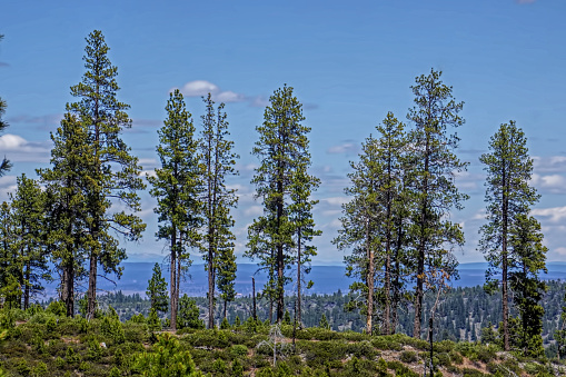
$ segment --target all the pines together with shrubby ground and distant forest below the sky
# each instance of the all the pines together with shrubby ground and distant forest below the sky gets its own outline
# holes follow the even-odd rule
[[[8,370],[0,376],[564,373],[564,284],[540,277],[547,249],[530,215],[540,196],[514,120],[480,157],[485,287],[449,289],[458,278],[454,250],[465,241],[450,214],[468,199],[456,181],[469,162],[456,153],[464,102],[431,69],[410,87],[407,123],[387,112],[350,162],[334,244],[347,251],[346,274],[356,281],[347,294],[317,297],[308,295],[321,235],[312,217],[320,179],[311,171],[310,128],[294,88],[276,89],[256,127],[250,185],[262,214],[248,227],[244,254],[268,279],[237,298],[238,192],[230,179],[239,156],[225,103],[205,96],[206,111],[193,121],[172,91],[158,130],[161,167],[143,177],[121,136],[132,121],[118,99],[110,48],[99,30],[86,42],[86,71],[70,88],[76,101],[51,133],[50,167],[18,177],[0,207],[0,361]],[[0,121],[6,107],[0,100]],[[10,168],[4,158],[0,172]],[[168,245],[168,268],[156,264],[147,299],[101,296],[99,279],[119,279],[123,242],[146,229],[146,189],[157,200],[155,236]],[[206,261],[206,298],[180,291],[195,256]],[[38,305],[42,284],[53,280],[58,299]]]

